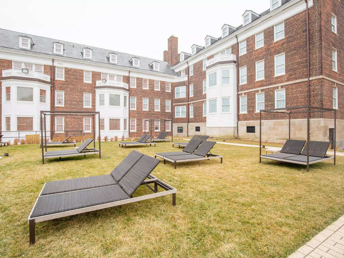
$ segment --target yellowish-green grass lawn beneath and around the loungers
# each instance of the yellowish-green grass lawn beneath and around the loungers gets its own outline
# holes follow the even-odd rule
[[[176,206],[169,195],[37,223],[29,246],[27,219],[45,182],[110,173],[132,149],[104,142],[102,159],[42,165],[38,144],[0,148],[10,155],[0,159],[0,257],[286,257],[344,213],[344,157],[306,172],[259,164],[258,148],[216,144],[223,164],[161,162],[152,172],[177,189]],[[172,144],[135,149],[153,156]]]

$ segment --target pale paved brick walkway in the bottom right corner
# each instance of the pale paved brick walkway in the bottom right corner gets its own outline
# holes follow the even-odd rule
[[[288,258],[344,258],[344,215]]]

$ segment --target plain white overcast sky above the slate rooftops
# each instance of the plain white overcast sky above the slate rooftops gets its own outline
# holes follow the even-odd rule
[[[181,51],[204,46],[237,27],[246,9],[261,13],[270,0],[1,0],[0,28],[163,59],[167,39]]]

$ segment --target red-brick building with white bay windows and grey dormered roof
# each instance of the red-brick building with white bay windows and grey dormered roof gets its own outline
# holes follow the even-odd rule
[[[155,122],[154,134],[173,126],[176,136],[257,139],[259,110],[307,105],[307,10],[311,105],[338,109],[343,127],[343,3],[307,5],[270,0],[269,9],[246,10],[240,26],[223,25],[220,37],[207,35],[191,53],[178,53],[171,36],[164,61],[1,29],[1,131],[38,130],[42,109],[92,110],[110,138],[139,136],[143,119],[162,118],[172,122]],[[330,138],[332,117],[312,114],[311,139]],[[89,118],[68,119],[53,117],[49,126],[91,129]],[[263,120],[265,141],[287,138],[286,116]],[[293,115],[291,125],[292,138],[306,138],[304,115]],[[343,144],[343,130],[337,139]]]

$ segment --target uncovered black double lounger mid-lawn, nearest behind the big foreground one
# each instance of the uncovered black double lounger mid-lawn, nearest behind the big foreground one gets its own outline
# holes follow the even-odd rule
[[[210,153],[210,150],[215,145],[215,143],[216,142],[202,141],[202,143],[198,146],[198,148],[193,154],[189,153],[189,154],[182,154],[182,155],[163,156],[162,159],[164,160],[164,164],[166,164],[166,161],[170,161],[174,163],[174,169],[177,168],[178,162],[221,159],[221,163],[222,163],[222,159],[223,159],[222,155],[215,155],[215,154]]]

